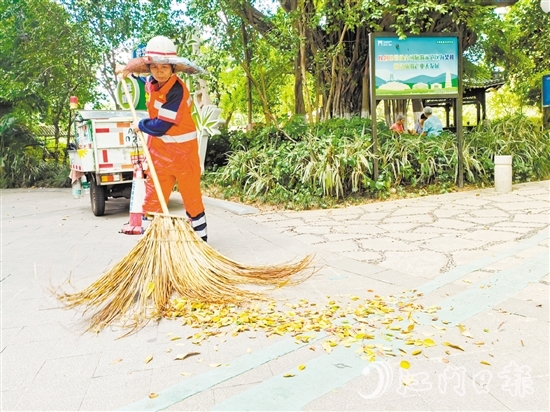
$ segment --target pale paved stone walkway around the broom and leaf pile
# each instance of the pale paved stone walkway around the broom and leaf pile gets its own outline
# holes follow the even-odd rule
[[[374,363],[357,343],[328,354],[331,331],[308,343],[249,331],[196,345],[186,339],[196,329],[163,319],[123,339],[114,327],[85,333],[82,314],[50,290],[69,276],[85,287],[128,253],[137,237],[117,233],[128,201],[109,200],[98,218],[70,190],[1,196],[2,411],[550,409],[548,181],[304,212],[205,199],[209,243],[224,255],[252,264],[315,255],[313,277],[273,293],[283,304],[380,296],[399,307],[405,292],[434,307],[414,315],[414,332],[434,347],[412,355],[401,332],[377,324]],[[184,213],[178,198],[171,213]],[[200,354],[175,360],[190,351]]]

